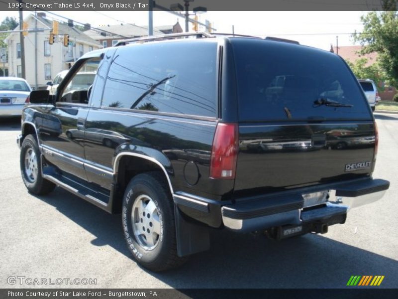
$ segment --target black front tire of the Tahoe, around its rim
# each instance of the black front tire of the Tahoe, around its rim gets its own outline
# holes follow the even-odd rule
[[[28,151],[34,152],[35,156],[37,157],[36,163],[34,164],[34,168],[37,171],[37,174],[35,176],[28,176],[25,169],[25,165],[27,162],[27,160],[25,159],[25,155]],[[19,165],[21,169],[23,183],[30,193],[35,195],[44,195],[54,190],[55,184],[46,180],[41,175],[40,150],[34,135],[28,135],[23,140],[19,156]]]

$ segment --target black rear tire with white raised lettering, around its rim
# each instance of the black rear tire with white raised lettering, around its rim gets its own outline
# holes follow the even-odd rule
[[[142,223],[143,232],[141,232],[141,234],[146,234],[147,227],[145,226],[148,225],[145,224],[145,219],[144,222],[142,219],[145,218],[145,213],[143,213],[144,217],[140,218],[141,215],[137,216],[137,210],[135,209],[135,212],[133,211],[134,203],[142,200],[140,197],[145,198],[146,196],[148,196],[156,206],[156,211],[152,214],[152,217],[155,217],[155,213],[157,213],[158,219],[160,219],[160,234],[158,234],[157,243],[152,249],[146,249],[145,246],[142,245],[142,243],[145,243],[145,240],[147,240],[146,236],[142,238],[140,236],[137,237],[134,233],[136,230],[133,229],[133,221],[138,225]],[[132,214],[134,215],[134,220],[132,220]],[[135,220],[137,220],[137,222]],[[151,223],[152,222],[149,222],[149,224]],[[186,257],[180,258],[177,256],[173,200],[161,173],[157,171],[147,172],[138,174],[131,179],[123,196],[122,226],[124,238],[130,252],[143,267],[158,272],[179,267],[187,260]],[[150,227],[148,226],[148,228]],[[155,228],[155,226],[153,228]],[[151,232],[152,236],[154,231],[155,230]],[[148,230],[148,234],[149,233],[150,231]]]

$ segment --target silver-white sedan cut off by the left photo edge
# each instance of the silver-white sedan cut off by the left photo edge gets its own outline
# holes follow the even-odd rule
[[[20,116],[31,91],[25,79],[0,77],[0,117]]]

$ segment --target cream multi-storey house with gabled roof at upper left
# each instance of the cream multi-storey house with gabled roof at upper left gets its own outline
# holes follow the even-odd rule
[[[29,29],[44,29],[43,32],[29,32],[24,37],[26,80],[32,87],[38,89],[45,89],[48,81],[51,81],[60,71],[69,69],[84,53],[102,47],[98,41],[74,27],[71,21],[59,23],[58,34],[55,35],[54,43],[50,45],[52,20],[46,18],[44,12],[39,12],[37,15],[30,14],[24,22],[28,24]],[[64,46],[64,34],[69,35],[70,42],[67,47]],[[9,76],[21,77],[22,54],[19,32],[10,33],[5,38],[5,42],[8,45]],[[35,53],[37,53],[36,59]]]

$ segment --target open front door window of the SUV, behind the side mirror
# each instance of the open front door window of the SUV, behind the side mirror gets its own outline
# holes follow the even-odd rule
[[[88,104],[88,89],[93,84],[100,58],[86,60],[64,88],[60,102]]]

